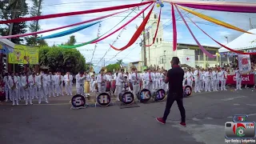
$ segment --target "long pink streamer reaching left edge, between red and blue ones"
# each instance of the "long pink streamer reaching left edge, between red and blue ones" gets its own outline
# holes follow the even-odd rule
[[[86,20],[84,22],[78,22],[78,23],[74,23],[74,24],[67,25],[67,26],[61,26],[61,27],[57,27],[57,28],[54,28],[54,29],[50,29],[50,30],[41,30],[41,31],[36,31],[36,32],[28,33],[28,34],[15,34],[15,35],[0,36],[0,38],[18,38],[18,37],[25,37],[25,36],[28,36],[28,35],[42,34],[42,33],[50,32],[50,31],[54,31],[54,30],[61,30],[61,29],[71,27],[71,26],[78,26],[78,25],[82,25],[82,24],[85,24],[85,23],[88,23],[88,22],[98,21],[98,20],[101,20],[103,18],[108,18],[110,16],[113,16],[113,15],[116,15],[116,14],[121,14],[121,13],[126,12],[126,11],[127,10],[122,10],[122,11],[114,13],[114,14],[108,14],[108,15],[105,15],[105,16],[102,16],[102,17],[89,19],[89,20]]]

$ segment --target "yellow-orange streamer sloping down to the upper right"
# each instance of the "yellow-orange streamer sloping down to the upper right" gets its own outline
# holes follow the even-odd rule
[[[186,10],[187,12],[191,13],[191,14],[194,14],[195,16],[199,17],[199,18],[202,18],[202,19],[205,19],[206,21],[209,21],[209,22],[213,22],[215,23],[216,25],[219,25],[219,26],[224,26],[226,28],[229,28],[229,29],[232,29],[232,30],[238,30],[238,31],[241,31],[243,33],[248,33],[248,34],[252,34],[246,30],[242,30],[236,26],[232,26],[230,25],[229,23],[226,23],[226,22],[222,22],[218,19],[215,19],[215,18],[211,18],[205,14],[200,14],[194,10],[190,10],[190,9],[186,9],[185,7],[182,7],[182,6],[178,6],[179,8],[181,8],[182,10]]]

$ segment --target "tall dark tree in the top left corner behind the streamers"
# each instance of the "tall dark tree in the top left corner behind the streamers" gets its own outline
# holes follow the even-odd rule
[[[22,18],[28,14],[28,6],[26,0],[10,0],[0,2],[0,18],[4,20]],[[14,35],[26,33],[26,22],[15,22],[6,25],[0,25],[1,35]],[[11,38],[11,42],[20,44],[23,41],[22,38]]]

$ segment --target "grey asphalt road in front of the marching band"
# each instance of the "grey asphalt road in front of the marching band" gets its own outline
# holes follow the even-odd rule
[[[176,103],[166,125],[165,102],[140,107],[88,107],[70,110],[66,96],[60,102],[34,106],[0,105],[1,144],[156,144],[224,143],[224,124],[234,114],[256,121],[256,90],[228,90],[193,94],[185,98],[186,127],[179,126]],[[65,99],[66,97],[66,99]],[[56,99],[55,99],[56,100]]]

